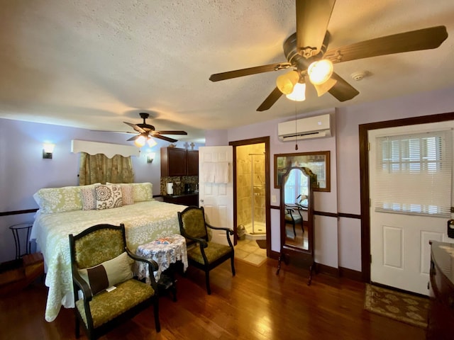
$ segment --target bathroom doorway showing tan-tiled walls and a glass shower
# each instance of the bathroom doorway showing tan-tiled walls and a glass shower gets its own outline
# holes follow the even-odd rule
[[[233,145],[233,221],[235,244],[248,240],[270,256],[270,137]]]

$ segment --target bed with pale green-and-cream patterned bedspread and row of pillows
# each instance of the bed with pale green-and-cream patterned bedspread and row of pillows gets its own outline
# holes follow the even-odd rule
[[[106,191],[106,187],[115,188],[116,192],[110,192],[110,196],[101,193]],[[99,193],[101,195],[96,196]],[[90,186],[45,188],[33,195],[40,209],[35,216],[31,239],[35,240],[43,253],[45,262],[45,285],[49,288],[46,321],[52,322],[61,306],[74,307],[69,234],[78,234],[87,227],[100,223],[123,223],[126,243],[133,252],[140,244],[157,237],[179,234],[177,212],[185,207],[153,200],[152,193],[151,183],[106,186],[97,183]],[[111,196],[115,196],[114,205],[106,203],[106,198],[110,199]]]

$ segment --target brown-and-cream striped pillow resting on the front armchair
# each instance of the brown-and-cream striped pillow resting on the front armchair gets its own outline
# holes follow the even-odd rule
[[[90,286],[93,295],[102,290],[133,278],[131,261],[126,251],[116,258],[103,262],[98,266],[79,269],[79,274]]]

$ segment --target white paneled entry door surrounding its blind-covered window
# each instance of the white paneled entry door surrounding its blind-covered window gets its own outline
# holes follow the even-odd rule
[[[452,129],[453,126],[453,122],[443,122],[369,131],[370,251],[372,256],[370,279],[372,282],[428,295],[431,259],[428,242],[431,239],[453,242],[453,239],[448,239],[446,232],[449,217],[402,215],[375,211],[376,164],[377,159],[381,157],[380,152],[377,151],[376,138],[412,132],[447,130]],[[451,188],[451,197],[452,193]]]

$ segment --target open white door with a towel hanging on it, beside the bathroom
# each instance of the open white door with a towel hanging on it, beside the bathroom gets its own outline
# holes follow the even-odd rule
[[[228,181],[216,179],[214,164],[228,164]],[[199,147],[199,206],[214,227],[233,229],[233,147]],[[213,232],[213,241],[227,244],[226,232]],[[233,235],[231,236],[233,243]]]

